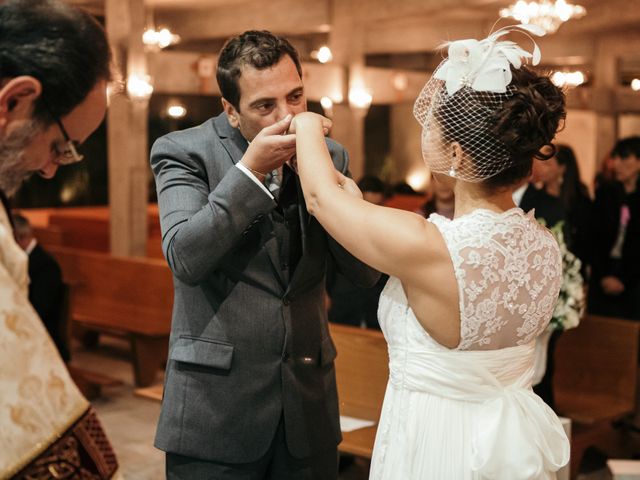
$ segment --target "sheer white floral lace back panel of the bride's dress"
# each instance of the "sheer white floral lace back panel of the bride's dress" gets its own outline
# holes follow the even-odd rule
[[[533,212],[474,210],[429,221],[444,237],[458,282],[458,350],[522,345],[547,326],[555,307],[562,262],[553,235]]]

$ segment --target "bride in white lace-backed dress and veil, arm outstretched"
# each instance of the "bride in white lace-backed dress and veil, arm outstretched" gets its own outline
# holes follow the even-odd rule
[[[511,196],[533,158],[552,155],[564,96],[523,66],[539,61],[535,42],[529,53],[501,40],[523,30],[538,34],[521,25],[450,43],[416,101],[424,160],[455,191],[453,220],[365,202],[332,166],[329,121],[292,121],[309,212],[391,275],[378,312],[390,375],[372,479],[546,479],[569,460],[558,418],[531,390],[560,253]]]

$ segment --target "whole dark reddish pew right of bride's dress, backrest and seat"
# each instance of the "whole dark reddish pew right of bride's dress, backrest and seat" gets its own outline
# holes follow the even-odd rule
[[[639,323],[599,316],[587,316],[558,339],[555,402],[558,413],[573,421],[572,478],[584,451],[614,445],[612,422],[634,411],[639,339]]]

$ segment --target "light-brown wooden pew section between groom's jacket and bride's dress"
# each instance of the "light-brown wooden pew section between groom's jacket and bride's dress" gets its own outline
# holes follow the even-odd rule
[[[343,432],[338,449],[371,458],[377,422],[389,378],[387,344],[381,332],[330,324],[336,345],[336,379],[340,415],[373,420],[376,426]]]

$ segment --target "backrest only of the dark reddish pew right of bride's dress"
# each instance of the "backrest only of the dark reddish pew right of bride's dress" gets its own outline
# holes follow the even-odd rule
[[[564,332],[555,352],[559,408],[590,405],[593,421],[598,411],[606,412],[614,404],[621,412],[633,411],[639,338],[640,323],[599,316],[587,316],[577,328]]]

